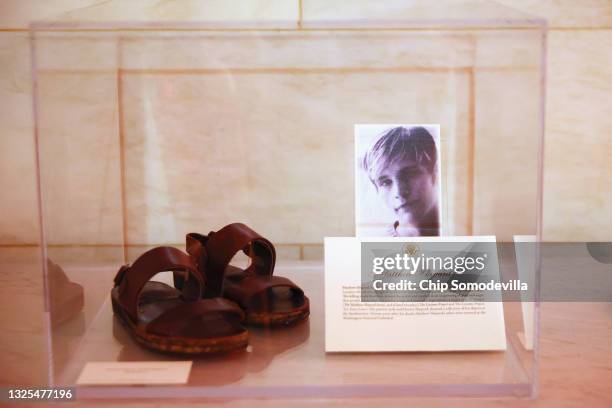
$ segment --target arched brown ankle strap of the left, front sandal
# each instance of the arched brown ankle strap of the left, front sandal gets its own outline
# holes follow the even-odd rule
[[[138,296],[142,288],[157,273],[166,271],[186,271],[183,296],[188,300],[200,297],[204,281],[189,255],[172,247],[153,248],[133,264],[123,265],[115,276],[119,301],[134,322],[138,321]]]

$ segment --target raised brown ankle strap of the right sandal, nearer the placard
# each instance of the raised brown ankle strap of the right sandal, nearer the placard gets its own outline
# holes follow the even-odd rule
[[[272,276],[276,263],[274,245],[242,223],[226,225],[208,236],[187,235],[187,252],[198,260],[200,272],[206,276],[204,297],[221,296],[225,269],[241,250],[251,258],[245,274]]]

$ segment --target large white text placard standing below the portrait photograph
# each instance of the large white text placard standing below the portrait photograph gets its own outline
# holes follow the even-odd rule
[[[501,284],[494,236],[325,238],[325,351],[505,350]]]

